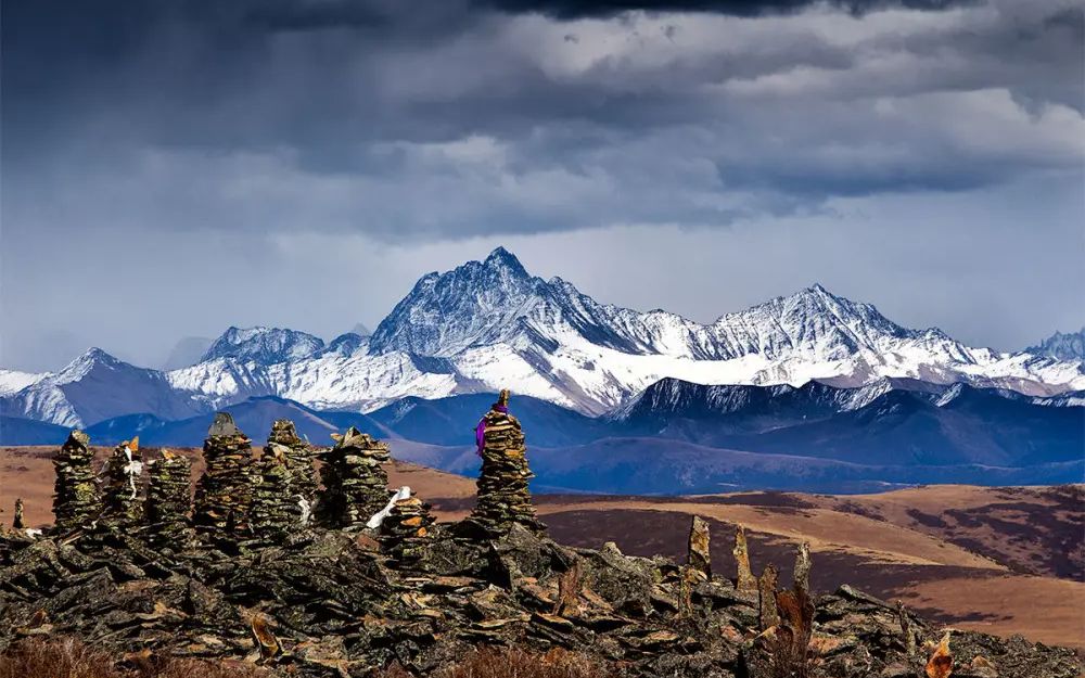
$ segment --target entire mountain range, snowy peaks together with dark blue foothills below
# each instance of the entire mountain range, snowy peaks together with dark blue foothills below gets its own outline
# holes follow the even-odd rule
[[[176,355],[205,345],[182,343]],[[735,485],[735,474],[814,483],[815,469],[818,487],[982,482],[978,469],[1070,481],[1085,449],[1081,354],[1080,333],[1021,353],[969,347],[820,285],[700,324],[600,304],[498,248],[421,278],[372,333],[326,344],[230,328],[168,371],[98,348],[55,373],[0,370],[0,442],[55,443],[79,426],[102,444],[197,445],[228,408],[257,440],[280,417],[319,444],[357,425],[462,471],[476,463],[471,427],[509,387],[540,482],[556,487],[624,487],[605,471],[616,459],[636,466],[621,468],[638,488],[663,492]],[[700,473],[691,460],[706,450],[727,453]],[[803,459],[818,461],[800,473]]]

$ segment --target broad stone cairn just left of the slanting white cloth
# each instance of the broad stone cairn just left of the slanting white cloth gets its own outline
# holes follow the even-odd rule
[[[354,426],[332,434],[335,446],[321,455],[324,491],[317,516],[328,527],[360,527],[388,502],[388,446]]]

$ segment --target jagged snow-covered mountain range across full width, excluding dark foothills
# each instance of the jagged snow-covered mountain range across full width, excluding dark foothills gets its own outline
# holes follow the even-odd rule
[[[1085,389],[1081,360],[968,347],[940,330],[902,328],[820,285],[700,324],[599,304],[560,278],[529,274],[498,248],[421,278],[369,337],[348,333],[324,345],[294,330],[230,328],[200,362],[168,372],[95,348],[55,374],[0,371],[0,404],[7,415],[87,426],[135,412],[179,419],[253,396],[372,411],[407,396],[510,387],[596,415],[628,407],[666,378],[875,391],[909,379],[1052,405]]]

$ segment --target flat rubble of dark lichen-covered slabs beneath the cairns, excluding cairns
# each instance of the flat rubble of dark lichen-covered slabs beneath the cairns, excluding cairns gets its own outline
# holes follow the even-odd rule
[[[792,665],[840,678],[949,675],[928,669],[942,629],[847,587],[804,612],[796,588],[769,596],[765,576],[761,592],[739,590],[691,577],[692,565],[570,549],[519,525],[497,538],[458,532],[434,526],[410,568],[393,567],[365,529],[302,530],[233,554],[153,550],[119,532],[9,533],[0,648],[73,636],[117,656],[247,658],[298,676],[396,662],[425,675],[480,644],[571,649],[633,676],[775,678]],[[952,632],[948,652],[961,678],[1081,673],[1072,651],[1021,639]]]

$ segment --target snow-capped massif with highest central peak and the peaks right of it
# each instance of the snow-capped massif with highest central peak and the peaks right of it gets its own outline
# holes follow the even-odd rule
[[[820,285],[700,324],[599,304],[560,278],[531,276],[503,248],[423,277],[373,333],[370,351],[386,350],[445,357],[490,388],[511,383],[590,413],[665,376],[760,385],[910,378],[1037,396],[1085,384],[1078,364],[908,330]]]

